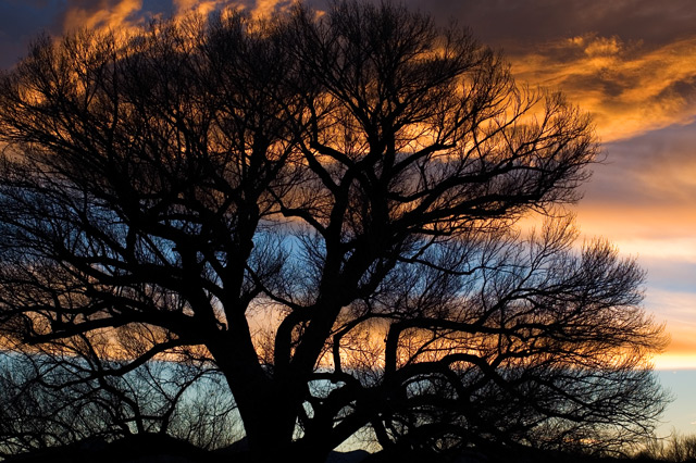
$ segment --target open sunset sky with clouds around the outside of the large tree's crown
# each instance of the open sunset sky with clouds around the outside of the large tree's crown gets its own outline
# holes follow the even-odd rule
[[[647,271],[645,308],[671,335],[656,367],[696,368],[696,2],[402,1],[442,24],[469,27],[502,50],[518,82],[561,90],[593,115],[606,161],[573,207],[577,225],[584,237],[609,239]],[[133,27],[225,2],[0,0],[0,67],[11,67],[42,30]],[[290,4],[237,3],[260,14]],[[696,377],[682,377],[696,390]],[[696,430],[696,413],[689,416],[685,423],[692,420]]]

